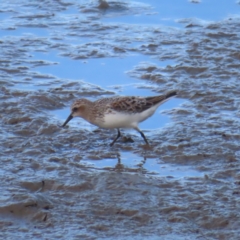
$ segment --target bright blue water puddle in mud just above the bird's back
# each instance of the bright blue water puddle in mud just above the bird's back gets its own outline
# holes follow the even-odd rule
[[[51,74],[71,80],[84,80],[91,84],[99,85],[107,89],[120,89],[121,95],[155,95],[151,89],[144,88],[148,83],[129,77],[126,71],[131,70],[140,62],[151,62],[156,65],[167,66],[174,64],[172,60],[157,61],[145,55],[133,55],[127,58],[95,58],[72,60],[70,58],[58,56],[55,52],[34,53],[34,60],[52,61],[54,65],[40,66],[34,68],[45,74]],[[150,84],[150,83],[149,83]],[[114,88],[118,86],[118,88]],[[151,83],[151,86],[154,86]],[[131,90],[130,90],[130,89]]]

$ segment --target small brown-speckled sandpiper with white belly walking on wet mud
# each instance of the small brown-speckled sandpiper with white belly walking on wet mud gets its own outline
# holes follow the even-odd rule
[[[76,100],[71,106],[71,114],[62,127],[74,117],[81,117],[101,128],[117,128],[117,136],[110,146],[121,136],[120,128],[133,128],[138,131],[146,144],[148,140],[138,128],[138,123],[151,117],[156,109],[176,91],[154,97],[110,97],[91,102],[85,98]]]

